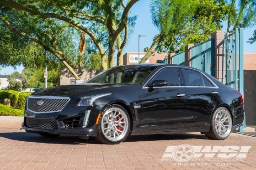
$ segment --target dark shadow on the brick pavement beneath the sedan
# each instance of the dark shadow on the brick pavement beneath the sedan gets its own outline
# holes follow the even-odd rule
[[[0,133],[0,138],[11,139],[21,142],[44,143],[44,144],[101,144],[99,141],[90,137],[80,139],[77,136],[60,135],[58,137],[43,137],[39,134],[27,132],[6,132]],[[186,139],[207,139],[203,134],[148,134],[148,135],[128,135],[123,142],[140,141],[160,141],[160,140],[186,140]]]

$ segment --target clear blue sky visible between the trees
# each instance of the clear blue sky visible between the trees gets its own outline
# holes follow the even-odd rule
[[[139,0],[135,5],[133,5],[130,10],[130,16],[138,15],[136,26],[133,35],[131,36],[128,44],[125,46],[124,53],[126,52],[138,52],[138,35],[145,34],[146,37],[140,37],[139,46],[140,52],[143,52],[145,47],[150,47],[152,44],[153,37],[159,32],[151,22],[151,17],[149,13],[149,0]],[[223,23],[223,30],[226,31],[226,23]],[[249,38],[251,38],[253,31],[256,30],[256,26],[252,28],[247,28],[244,31],[244,52],[245,53],[256,53],[256,43],[247,43]],[[17,67],[18,72],[21,73],[23,67]],[[8,75],[14,72],[12,67],[2,68],[1,75]]]

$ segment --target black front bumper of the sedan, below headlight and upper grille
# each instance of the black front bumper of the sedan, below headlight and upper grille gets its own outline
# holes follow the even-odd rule
[[[96,136],[96,118],[103,105],[67,109],[60,113],[32,113],[25,109],[24,123],[21,129],[30,133],[64,134],[69,136]],[[75,111],[75,109],[77,109]],[[87,112],[87,110],[91,110]],[[73,113],[72,113],[72,112]],[[88,123],[83,126],[88,115]],[[28,121],[30,119],[30,121]]]

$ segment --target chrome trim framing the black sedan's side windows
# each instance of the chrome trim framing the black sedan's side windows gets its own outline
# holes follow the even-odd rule
[[[175,68],[178,68],[178,67],[180,67],[180,68],[186,68],[186,69],[191,69],[191,70],[194,70],[194,71],[196,71],[196,72],[200,72],[200,71],[198,71],[198,70],[196,70],[196,69],[193,69],[193,68],[188,68],[188,67],[182,67],[182,66],[166,66],[166,67],[163,67],[163,68],[161,68],[160,70],[158,70],[155,74],[157,74],[158,72],[160,72],[162,69],[164,69],[164,68],[168,68],[168,67],[175,67]],[[211,82],[212,84],[213,84],[213,86],[214,87],[203,87],[203,86],[168,86],[168,87],[189,87],[189,88],[198,88],[198,87],[200,87],[200,88],[219,88],[211,79],[209,79],[208,78],[208,76],[206,76],[203,72],[200,72],[201,74],[203,74],[204,75],[204,77],[209,81],[209,82]],[[152,77],[154,77],[155,76],[155,74],[152,76]],[[181,73],[182,74],[182,73]],[[180,78],[180,75],[179,75],[179,78]],[[150,78],[149,79],[149,81],[151,80],[152,78]],[[148,81],[148,82],[149,82]],[[148,84],[148,82],[146,82],[145,83],[145,85],[143,86],[143,88],[148,88],[147,87],[147,84]],[[180,83],[181,83],[181,79],[180,79]],[[166,88],[167,86],[165,86],[165,87],[157,87],[157,88]],[[154,87],[154,88],[156,88],[156,87]]]

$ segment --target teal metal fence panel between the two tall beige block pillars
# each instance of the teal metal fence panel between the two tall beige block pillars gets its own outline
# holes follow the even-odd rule
[[[203,41],[191,47],[191,67],[214,76],[214,39]]]

